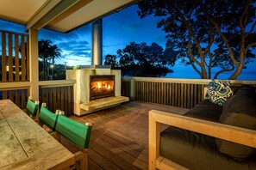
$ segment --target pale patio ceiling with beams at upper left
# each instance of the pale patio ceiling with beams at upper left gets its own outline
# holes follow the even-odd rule
[[[61,33],[97,21],[138,0],[0,0],[0,19]]]

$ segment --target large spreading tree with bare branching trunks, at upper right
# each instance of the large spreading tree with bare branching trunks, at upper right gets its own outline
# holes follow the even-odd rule
[[[190,64],[201,78],[211,78],[212,68],[234,70],[236,79],[255,58],[255,1],[144,0],[138,14],[165,16],[158,23],[167,33],[165,53]],[[172,52],[172,53],[171,53]]]

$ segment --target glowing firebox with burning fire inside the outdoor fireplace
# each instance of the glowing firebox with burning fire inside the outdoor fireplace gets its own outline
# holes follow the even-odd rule
[[[90,76],[90,100],[115,96],[115,75]]]

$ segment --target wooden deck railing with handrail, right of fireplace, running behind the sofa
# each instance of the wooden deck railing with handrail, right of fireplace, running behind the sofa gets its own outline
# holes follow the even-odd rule
[[[204,98],[207,79],[129,77],[122,79],[122,95],[169,106],[192,108]],[[230,81],[231,87],[241,84],[256,86],[256,81]]]

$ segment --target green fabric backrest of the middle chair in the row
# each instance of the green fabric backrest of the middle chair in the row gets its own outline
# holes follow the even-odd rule
[[[46,124],[47,127],[55,131],[58,116],[59,116],[58,112],[54,114],[53,112],[47,109],[45,103],[42,104],[40,109],[40,114],[39,114],[39,120],[41,124]]]

